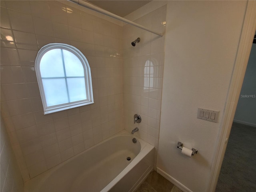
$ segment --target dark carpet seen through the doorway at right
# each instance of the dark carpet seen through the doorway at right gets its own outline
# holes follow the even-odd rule
[[[256,127],[233,123],[216,192],[256,192]]]

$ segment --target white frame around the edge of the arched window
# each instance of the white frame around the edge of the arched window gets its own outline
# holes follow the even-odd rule
[[[42,82],[42,76],[41,76],[41,72],[40,72],[40,61],[46,52],[53,50],[53,49],[68,50],[68,51],[72,52],[74,55],[76,55],[79,58],[79,60],[81,61],[83,68],[84,68],[84,79],[85,79],[85,86],[86,86],[85,90],[86,90],[86,98],[87,98],[86,100],[68,102],[68,103],[58,104],[58,105],[54,105],[54,106],[47,106],[43,82]],[[92,92],[92,76],[91,76],[91,70],[90,70],[88,60],[86,59],[84,54],[82,54],[82,52],[80,52],[80,50],[78,50],[74,46],[71,46],[68,44],[62,44],[62,43],[50,43],[50,44],[43,46],[39,50],[39,52],[36,56],[35,70],[36,70],[36,78],[38,81],[40,95],[42,98],[44,114],[50,114],[50,113],[54,113],[54,112],[67,110],[67,109],[94,103],[93,92]]]

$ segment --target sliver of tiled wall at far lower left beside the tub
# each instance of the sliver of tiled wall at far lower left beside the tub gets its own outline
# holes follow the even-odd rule
[[[9,136],[6,131],[2,116],[0,119],[1,126],[1,162],[0,162],[0,191],[9,192],[17,191],[23,192],[23,180],[20,174],[20,169],[18,167],[12,146],[10,143]]]

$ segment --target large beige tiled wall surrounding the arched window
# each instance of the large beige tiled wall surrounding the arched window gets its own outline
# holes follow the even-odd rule
[[[124,128],[122,27],[57,1],[0,2],[1,116],[26,181]],[[94,104],[43,114],[34,60],[53,42],[88,59]]]

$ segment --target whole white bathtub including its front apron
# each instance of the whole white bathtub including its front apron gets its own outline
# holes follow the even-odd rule
[[[24,192],[132,192],[153,170],[154,146],[122,131],[32,178]],[[128,161],[127,157],[131,160]]]

